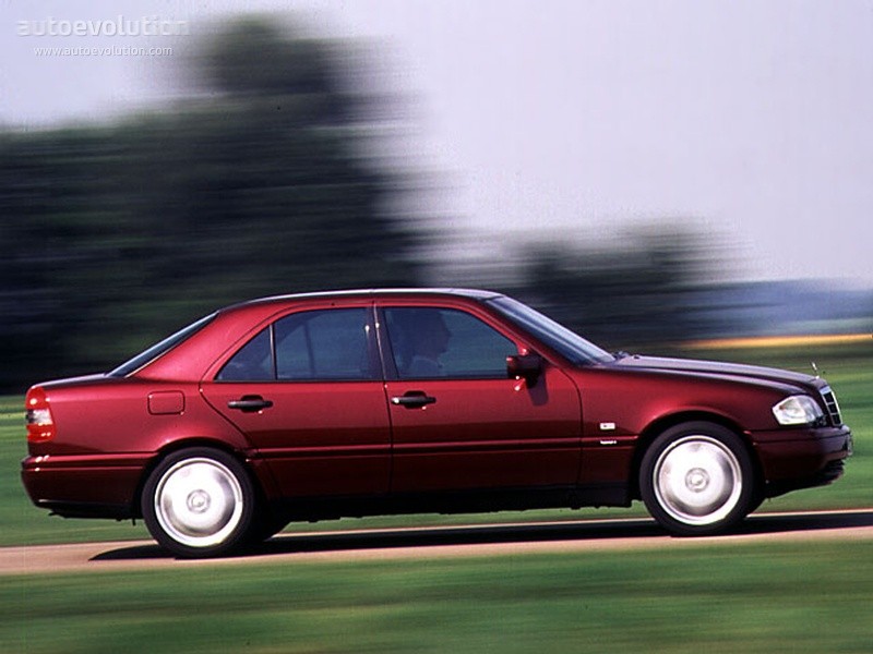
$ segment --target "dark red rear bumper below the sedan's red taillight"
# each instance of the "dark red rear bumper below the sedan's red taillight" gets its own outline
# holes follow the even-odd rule
[[[148,456],[27,457],[21,479],[38,507],[69,518],[132,518]]]

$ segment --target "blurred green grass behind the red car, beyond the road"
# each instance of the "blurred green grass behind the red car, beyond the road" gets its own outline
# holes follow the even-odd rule
[[[802,351],[786,348],[742,351],[694,351],[695,358],[713,358],[775,365],[809,372],[816,361],[839,398],[846,422],[856,438],[856,456],[844,479],[835,484],[790,493],[764,504],[762,511],[869,508],[873,506],[873,339],[871,346],[829,346]],[[81,541],[147,538],[140,523],[105,520],[64,520],[49,517],[27,499],[21,485],[20,461],[26,453],[23,401],[0,398],[0,545],[69,543]],[[433,525],[471,522],[529,520],[578,520],[584,518],[638,517],[645,509],[636,502],[631,510],[526,511],[483,516],[412,516],[367,518],[296,524],[290,531],[361,529],[398,525]]]

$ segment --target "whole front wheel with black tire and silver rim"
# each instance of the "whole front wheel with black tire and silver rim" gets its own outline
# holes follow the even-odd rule
[[[752,459],[730,429],[689,422],[667,429],[646,450],[639,491],[651,517],[671,534],[723,533],[760,496]]]

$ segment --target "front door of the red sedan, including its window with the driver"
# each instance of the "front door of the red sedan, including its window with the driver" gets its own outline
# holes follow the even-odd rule
[[[379,315],[393,492],[576,483],[581,403],[560,368],[507,378],[506,356],[527,346],[473,306],[385,301]]]

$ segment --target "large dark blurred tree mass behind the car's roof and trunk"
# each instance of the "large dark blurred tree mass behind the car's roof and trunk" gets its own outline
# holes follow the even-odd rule
[[[338,41],[230,23],[171,111],[0,137],[0,388],[107,370],[255,295],[420,283],[368,147],[368,71]]]

